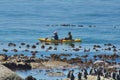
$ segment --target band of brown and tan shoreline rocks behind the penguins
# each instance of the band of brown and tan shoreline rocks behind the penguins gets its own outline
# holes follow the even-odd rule
[[[74,58],[61,58],[61,57],[70,57],[71,54],[51,54],[48,58],[31,58],[24,56],[23,54],[7,56],[5,54],[0,54],[0,62],[4,66],[10,68],[11,70],[28,70],[28,69],[37,69],[37,68],[65,68],[65,67],[109,67],[114,65],[120,65],[117,62],[110,62],[107,60],[112,60],[120,58],[119,55],[94,55],[94,61],[87,59],[88,55],[76,55]],[[7,58],[6,58],[7,57]],[[99,57],[100,59],[96,59]],[[6,59],[5,59],[6,58]],[[106,60],[105,60],[106,59]],[[95,62],[98,61],[98,62]],[[100,61],[100,62],[99,62]]]

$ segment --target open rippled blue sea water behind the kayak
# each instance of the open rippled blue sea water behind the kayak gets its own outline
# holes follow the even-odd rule
[[[35,44],[38,38],[51,37],[54,31],[60,38],[71,31],[73,38],[82,39],[77,45],[89,48],[112,43],[120,49],[119,4],[119,0],[0,0],[0,43],[3,44],[0,52],[8,48],[9,42]],[[59,48],[58,52],[45,52],[39,47],[37,50],[50,54],[64,52],[62,48],[69,47]]]

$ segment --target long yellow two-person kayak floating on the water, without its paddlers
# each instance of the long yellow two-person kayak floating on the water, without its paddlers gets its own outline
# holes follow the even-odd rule
[[[65,40],[65,39],[62,39],[62,40],[53,40],[53,39],[46,39],[46,38],[38,38],[38,40],[40,40],[41,42],[55,42],[55,43],[58,43],[58,42],[81,42],[82,40],[81,39],[74,39],[74,40]]]

